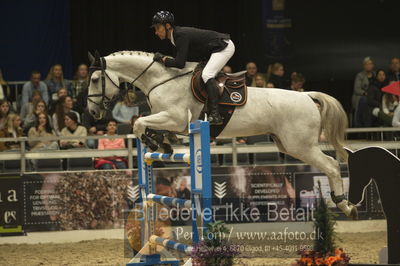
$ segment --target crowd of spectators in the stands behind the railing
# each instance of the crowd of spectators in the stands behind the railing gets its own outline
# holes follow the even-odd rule
[[[254,62],[246,64],[246,85],[260,88],[281,88],[302,92],[306,79],[303,74],[287,75],[281,63],[268,66],[260,73]],[[225,66],[223,72],[232,68]],[[399,96],[382,92],[382,88],[400,79],[400,61],[393,57],[389,68],[375,69],[373,60],[366,57],[363,70],[354,81],[352,97],[352,120],[355,127],[400,126]],[[126,84],[125,84],[126,85]],[[128,88],[121,102],[106,112],[101,120],[95,120],[88,112],[88,66],[77,67],[73,80],[64,78],[63,68],[52,66],[42,81],[41,73],[32,71],[30,80],[23,85],[17,107],[7,99],[10,88],[0,72],[0,137],[29,138],[44,136],[73,136],[64,141],[29,141],[29,149],[114,149],[124,148],[121,139],[88,140],[87,135],[115,135],[119,128],[125,133],[131,130],[132,118],[145,115],[137,101],[138,90]],[[239,140],[243,141],[243,140]],[[15,141],[0,142],[0,151],[19,149]],[[123,158],[101,158],[96,160],[98,168],[126,168]]]

